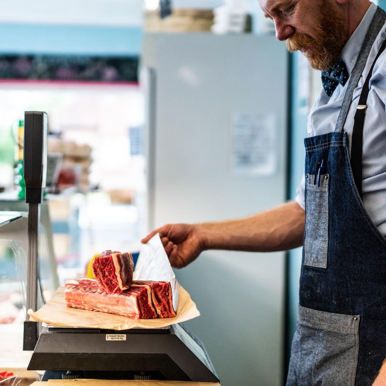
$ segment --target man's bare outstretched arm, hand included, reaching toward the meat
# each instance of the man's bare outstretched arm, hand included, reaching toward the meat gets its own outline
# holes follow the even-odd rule
[[[298,247],[303,244],[304,223],[304,210],[289,202],[237,220],[164,225],[142,242],[159,233],[172,266],[181,268],[207,249],[272,252]]]

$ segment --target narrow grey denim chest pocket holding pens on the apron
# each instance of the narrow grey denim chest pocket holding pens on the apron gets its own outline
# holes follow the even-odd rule
[[[328,181],[330,176],[323,174],[320,177],[319,187],[314,184],[314,174],[307,174],[306,178],[304,264],[327,268]]]

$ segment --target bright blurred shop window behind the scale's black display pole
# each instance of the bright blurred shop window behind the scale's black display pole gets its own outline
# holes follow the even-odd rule
[[[8,171],[3,177],[7,194],[14,189],[17,146],[11,129],[24,111],[48,114],[53,185],[46,200],[60,283],[85,277],[90,259],[106,249],[138,251],[146,231],[144,97],[139,86],[3,83],[0,106],[0,146],[5,150],[0,168]]]

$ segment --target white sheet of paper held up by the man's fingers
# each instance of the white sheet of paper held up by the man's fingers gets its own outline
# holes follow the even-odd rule
[[[169,281],[173,294],[173,308],[177,312],[179,284],[159,233],[142,245],[135,265],[133,280]]]

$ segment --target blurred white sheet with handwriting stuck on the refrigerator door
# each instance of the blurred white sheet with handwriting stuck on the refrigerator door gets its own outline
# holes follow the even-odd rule
[[[274,113],[235,113],[232,119],[232,172],[256,176],[274,174],[277,142]]]

